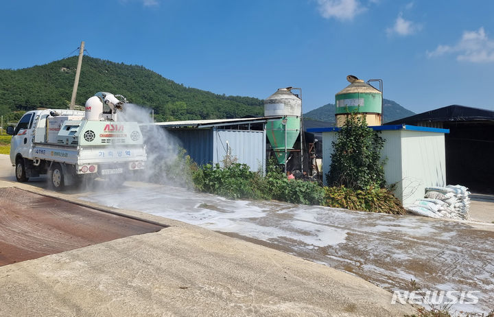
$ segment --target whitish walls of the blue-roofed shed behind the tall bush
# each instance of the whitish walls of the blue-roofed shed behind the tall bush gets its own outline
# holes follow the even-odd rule
[[[322,133],[322,172],[329,171],[336,132]],[[384,165],[386,183],[396,184],[395,196],[403,204],[423,198],[425,187],[446,185],[444,133],[410,130],[384,130],[386,139],[381,152],[387,158]]]

